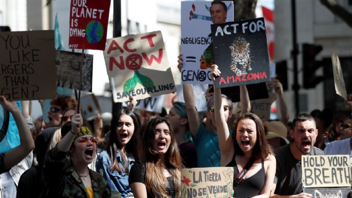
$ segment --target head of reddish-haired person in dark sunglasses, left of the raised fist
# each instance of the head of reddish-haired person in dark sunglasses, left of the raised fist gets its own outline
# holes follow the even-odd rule
[[[76,100],[70,96],[59,96],[51,100],[50,109],[48,112],[49,127],[56,127],[61,125],[61,117],[66,109],[76,107]]]

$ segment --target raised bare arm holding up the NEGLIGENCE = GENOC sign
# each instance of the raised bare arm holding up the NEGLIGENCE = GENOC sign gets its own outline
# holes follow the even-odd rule
[[[177,67],[180,71],[183,66],[182,61],[183,61],[182,55],[179,55]],[[196,136],[199,130],[200,121],[199,121],[198,112],[196,110],[196,107],[194,106],[194,96],[193,96],[192,85],[182,84],[182,88],[183,88],[183,99],[184,99],[184,104],[186,105],[188,122],[192,123],[190,124],[190,131],[193,136]]]

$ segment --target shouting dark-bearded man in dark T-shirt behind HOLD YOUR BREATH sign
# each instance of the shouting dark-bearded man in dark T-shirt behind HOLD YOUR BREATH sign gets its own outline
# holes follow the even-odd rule
[[[275,150],[276,174],[271,198],[308,198],[309,193],[302,187],[302,155],[324,155],[314,147],[318,130],[314,118],[309,114],[299,114],[292,121],[290,135],[293,142]]]

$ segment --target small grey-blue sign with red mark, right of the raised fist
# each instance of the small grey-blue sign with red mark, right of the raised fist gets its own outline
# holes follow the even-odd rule
[[[98,100],[94,94],[89,94],[81,98],[82,113],[88,119],[94,119],[101,113]]]

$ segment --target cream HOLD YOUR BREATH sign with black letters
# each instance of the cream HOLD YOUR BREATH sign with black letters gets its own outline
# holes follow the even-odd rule
[[[348,155],[302,156],[303,187],[351,185]]]

